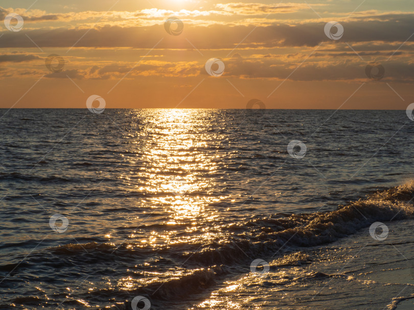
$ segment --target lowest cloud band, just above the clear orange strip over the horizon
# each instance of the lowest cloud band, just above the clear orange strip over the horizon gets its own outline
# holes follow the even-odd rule
[[[375,57],[387,56],[384,53],[363,53],[361,60],[355,53],[325,53],[320,51],[308,57],[309,53],[292,53],[286,55],[255,54],[243,57],[239,53],[223,58],[225,73],[223,78],[262,79],[282,81],[365,81],[365,66]],[[304,62],[304,60],[306,61]],[[398,59],[380,62],[385,68],[382,82],[412,83],[414,81],[414,62]],[[76,68],[78,67],[78,68]],[[128,73],[126,79],[136,77],[188,78],[203,76],[210,78],[202,61],[160,61],[145,60],[139,64],[118,62],[107,64],[73,61],[60,73],[49,73],[46,69],[36,70],[28,67],[15,67],[0,71],[1,77],[33,76],[52,79],[89,79],[89,80],[120,80]]]

